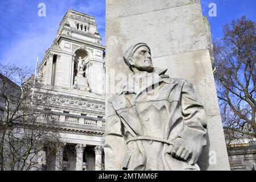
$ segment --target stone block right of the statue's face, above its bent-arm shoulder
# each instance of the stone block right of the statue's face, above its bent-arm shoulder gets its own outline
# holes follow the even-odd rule
[[[168,68],[167,75],[193,82],[196,94],[203,103],[207,115],[220,114],[208,50],[155,57],[154,65]]]

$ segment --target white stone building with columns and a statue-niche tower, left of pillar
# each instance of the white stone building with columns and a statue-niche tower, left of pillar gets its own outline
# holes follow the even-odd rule
[[[54,117],[65,123],[46,170],[101,170],[105,129],[105,47],[93,16],[68,10],[39,64]],[[58,155],[61,154],[61,155]]]

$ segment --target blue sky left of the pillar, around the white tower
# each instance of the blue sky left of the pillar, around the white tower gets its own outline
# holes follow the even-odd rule
[[[38,16],[38,4],[46,4],[46,16]],[[0,63],[35,68],[56,37],[68,9],[96,17],[105,44],[105,0],[5,0],[0,1]]]

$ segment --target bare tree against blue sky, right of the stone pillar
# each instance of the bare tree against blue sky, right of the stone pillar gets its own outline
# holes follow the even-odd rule
[[[226,139],[256,138],[255,22],[242,16],[214,43],[216,85]]]

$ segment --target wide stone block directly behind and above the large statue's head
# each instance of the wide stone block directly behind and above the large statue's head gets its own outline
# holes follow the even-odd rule
[[[106,64],[122,64],[122,52],[134,41],[150,45],[152,57],[174,55],[207,48],[200,3],[161,11],[110,18],[106,22],[108,45]]]

